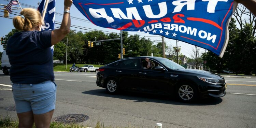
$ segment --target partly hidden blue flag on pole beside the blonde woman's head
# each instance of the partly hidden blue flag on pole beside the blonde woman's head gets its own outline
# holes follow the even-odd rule
[[[38,6],[38,11],[43,14],[44,6],[46,0],[42,0]],[[55,24],[55,0],[49,0],[48,6],[46,9],[45,17],[44,17],[44,26],[42,26],[43,30],[54,30]],[[53,54],[54,45],[51,47],[51,51]]]

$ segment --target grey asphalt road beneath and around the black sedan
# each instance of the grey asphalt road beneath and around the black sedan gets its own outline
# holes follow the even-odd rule
[[[57,101],[53,117],[66,114],[85,114],[89,119],[81,123],[95,126],[154,128],[255,128],[256,77],[225,77],[227,95],[217,99],[203,99],[188,104],[173,98],[140,93],[109,95],[96,86],[96,73],[55,72]],[[0,115],[15,111],[10,77],[0,71]],[[9,90],[3,90],[9,89]]]

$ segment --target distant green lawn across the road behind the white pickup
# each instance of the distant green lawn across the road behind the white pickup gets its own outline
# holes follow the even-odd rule
[[[71,67],[73,65],[73,63],[68,63],[67,64],[67,69],[66,69],[66,65],[63,63],[54,63],[53,65],[53,70],[54,71],[64,71],[64,72],[69,72],[69,67]],[[91,64],[75,64],[78,67],[83,67],[84,65],[91,65]],[[94,67],[102,67],[104,65],[93,65]]]

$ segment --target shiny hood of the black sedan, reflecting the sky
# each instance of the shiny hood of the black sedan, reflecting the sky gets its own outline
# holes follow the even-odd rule
[[[197,69],[179,69],[175,70],[177,72],[183,72],[190,75],[196,75],[201,77],[209,77],[214,79],[224,79],[221,75],[215,74],[213,72],[203,71],[203,70],[197,70]]]

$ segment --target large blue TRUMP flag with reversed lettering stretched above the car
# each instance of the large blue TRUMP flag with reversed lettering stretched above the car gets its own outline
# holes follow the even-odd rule
[[[162,35],[222,57],[228,44],[233,0],[73,0],[93,24]]]

